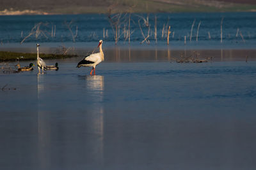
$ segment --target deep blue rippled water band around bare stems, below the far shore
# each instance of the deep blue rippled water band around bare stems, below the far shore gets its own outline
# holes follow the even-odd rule
[[[147,17],[147,14],[132,14],[131,15],[131,45],[138,46],[143,41],[138,20],[141,17]],[[157,17],[157,45],[154,39],[154,23],[155,16]],[[124,27],[127,30],[129,15],[125,15],[124,22],[120,24],[120,39],[118,45],[127,44],[124,38]],[[223,43],[220,43],[220,25],[223,18]],[[191,25],[195,20],[193,33],[190,40]],[[30,36],[26,43],[56,43],[56,46],[61,43],[72,42],[72,34],[68,30],[65,22],[72,21],[70,28],[75,38],[76,43],[85,43],[104,39],[105,45],[114,45],[113,30],[109,24],[107,15],[31,15],[31,16],[0,16],[0,41],[3,45],[10,43],[20,43],[22,39],[28,36],[35,24],[42,22],[41,33],[38,38],[35,34]],[[196,31],[199,22],[202,22],[198,32],[198,41],[196,41]],[[200,48],[220,48],[220,46],[228,48],[255,48],[256,44],[256,13],[156,13],[149,14],[150,24],[150,46],[165,46],[166,34],[162,38],[163,25],[172,27],[170,34],[170,45],[184,46],[184,36],[186,36],[187,45],[200,46]],[[52,28],[56,25],[56,35],[52,37]],[[141,26],[145,36],[147,36],[147,27],[141,20]],[[237,34],[237,28],[241,31],[244,41],[241,38],[240,32]],[[108,37],[103,38],[103,29],[108,30]],[[173,34],[174,32],[174,34]],[[209,39],[208,32],[211,34]],[[22,34],[22,35],[21,35]],[[94,44],[93,44],[94,45]],[[95,46],[95,45],[94,45]]]

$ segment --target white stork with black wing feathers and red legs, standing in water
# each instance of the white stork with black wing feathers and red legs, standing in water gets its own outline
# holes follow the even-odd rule
[[[95,67],[104,60],[104,53],[102,51],[102,40],[99,41],[98,48],[100,48],[99,53],[92,53],[91,55],[86,56],[77,64],[77,67],[92,67],[92,71],[94,70],[93,75],[95,75]],[[91,75],[92,71],[90,73]]]

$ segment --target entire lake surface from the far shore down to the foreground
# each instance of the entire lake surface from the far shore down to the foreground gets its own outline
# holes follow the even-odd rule
[[[46,60],[60,70],[45,74],[0,69],[0,169],[255,169],[256,13],[150,14],[150,45],[147,14],[132,14],[129,46],[128,16],[117,46],[106,15],[0,16],[0,50],[85,55],[103,39],[106,55],[95,76],[76,68],[83,57]],[[195,51],[212,60],[173,62]]]

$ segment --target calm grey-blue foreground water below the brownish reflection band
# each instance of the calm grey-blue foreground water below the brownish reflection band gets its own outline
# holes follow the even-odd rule
[[[255,61],[57,61],[0,74],[1,169],[256,167]]]

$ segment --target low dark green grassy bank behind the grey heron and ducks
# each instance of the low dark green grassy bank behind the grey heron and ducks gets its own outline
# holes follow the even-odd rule
[[[77,57],[77,55],[40,53],[42,59],[66,59],[70,57]],[[0,62],[15,60],[36,60],[36,53],[0,52]]]

